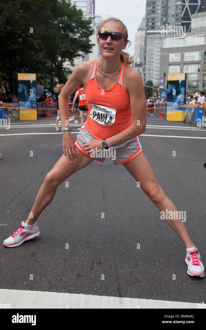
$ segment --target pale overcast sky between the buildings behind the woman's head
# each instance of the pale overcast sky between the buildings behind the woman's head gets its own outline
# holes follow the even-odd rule
[[[119,18],[126,25],[128,39],[132,42],[126,50],[130,56],[134,55],[135,33],[145,16],[146,0],[95,0],[95,14],[102,18],[110,15]]]

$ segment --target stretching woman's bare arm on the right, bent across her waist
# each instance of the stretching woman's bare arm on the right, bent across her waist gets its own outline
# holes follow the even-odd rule
[[[145,132],[146,100],[142,77],[138,71],[134,70],[131,72],[127,88],[130,96],[133,123],[119,134],[106,139],[108,147],[131,140]]]

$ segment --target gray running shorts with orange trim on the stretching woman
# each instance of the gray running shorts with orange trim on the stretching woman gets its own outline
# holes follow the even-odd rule
[[[142,153],[142,146],[140,144],[140,138],[137,136],[129,141],[122,142],[116,146],[109,147],[103,150],[90,150],[91,152],[84,150],[83,145],[95,139],[87,130],[85,123],[81,126],[79,134],[76,136],[75,147],[84,153],[86,156],[95,160],[100,160],[102,163],[106,158],[113,161],[114,165],[119,165],[128,162]]]

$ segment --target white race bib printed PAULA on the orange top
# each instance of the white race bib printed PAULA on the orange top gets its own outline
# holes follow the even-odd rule
[[[100,126],[106,127],[115,123],[116,109],[98,104],[91,104],[91,106],[90,117]]]

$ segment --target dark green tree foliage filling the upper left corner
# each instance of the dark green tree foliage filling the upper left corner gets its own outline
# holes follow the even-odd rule
[[[44,85],[51,76],[65,83],[80,52],[92,52],[92,18],[70,2],[1,0],[0,10],[0,71],[11,88],[15,72],[36,73]]]

